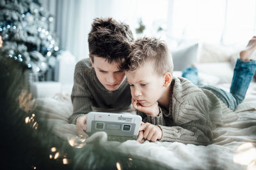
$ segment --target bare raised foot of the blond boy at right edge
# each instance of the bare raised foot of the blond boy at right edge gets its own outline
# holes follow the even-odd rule
[[[252,53],[256,48],[256,36],[253,36],[252,39],[248,42],[248,45],[244,50],[240,52],[240,59],[244,61],[249,61],[250,57],[252,57]]]

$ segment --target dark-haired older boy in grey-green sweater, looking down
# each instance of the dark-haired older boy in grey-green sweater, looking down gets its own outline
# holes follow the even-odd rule
[[[131,105],[131,92],[119,63],[131,52],[133,41],[128,25],[113,18],[95,18],[88,34],[89,59],[76,64],[71,99],[74,107],[69,122],[77,134],[86,136],[86,113],[125,110]]]

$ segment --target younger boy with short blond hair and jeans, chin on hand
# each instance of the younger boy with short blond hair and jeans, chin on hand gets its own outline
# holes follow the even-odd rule
[[[138,141],[211,143],[216,125],[236,119],[232,110],[243,101],[255,73],[256,61],[250,60],[255,48],[253,37],[237,59],[229,94],[173,77],[172,57],[165,43],[156,38],[138,39],[124,64],[132,106],[145,122]]]

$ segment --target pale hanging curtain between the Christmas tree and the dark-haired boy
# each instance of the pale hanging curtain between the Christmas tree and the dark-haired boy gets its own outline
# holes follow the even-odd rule
[[[43,4],[54,14],[54,29],[62,49],[81,60],[88,57],[87,34],[90,31],[96,1],[44,0]]]

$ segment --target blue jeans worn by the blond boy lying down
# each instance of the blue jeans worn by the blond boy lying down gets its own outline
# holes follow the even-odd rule
[[[234,76],[230,86],[230,92],[213,87],[212,85],[200,85],[198,87],[211,90],[217,97],[223,101],[228,108],[235,110],[238,104],[242,103],[246,91],[253,79],[256,69],[256,60],[243,61],[237,59],[234,68]],[[182,71],[182,77],[192,81],[195,85],[198,83],[198,70],[196,67],[188,67]]]

